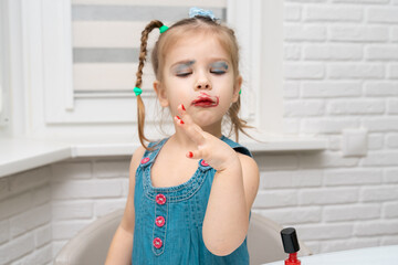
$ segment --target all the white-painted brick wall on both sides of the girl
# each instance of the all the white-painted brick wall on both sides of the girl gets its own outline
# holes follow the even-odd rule
[[[324,152],[258,155],[254,212],[315,253],[398,244],[398,1],[285,0],[285,131]],[[365,157],[342,130],[368,130]],[[0,179],[0,265],[51,264],[128,192],[129,158],[78,159]]]

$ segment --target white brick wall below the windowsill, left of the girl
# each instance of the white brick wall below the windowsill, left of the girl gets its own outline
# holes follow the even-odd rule
[[[70,160],[0,179],[0,265],[51,264],[128,192],[128,157]]]

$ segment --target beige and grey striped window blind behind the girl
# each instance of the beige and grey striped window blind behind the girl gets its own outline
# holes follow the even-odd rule
[[[145,25],[151,20],[170,25],[188,18],[191,7],[212,10],[226,21],[227,0],[73,0],[74,93],[133,93]],[[158,35],[159,31],[149,34],[148,55]],[[151,92],[149,57],[143,78],[144,93]]]

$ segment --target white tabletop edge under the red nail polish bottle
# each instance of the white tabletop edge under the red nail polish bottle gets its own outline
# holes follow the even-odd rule
[[[398,265],[398,245],[324,253],[298,259],[302,265]],[[284,265],[284,261],[266,265]]]

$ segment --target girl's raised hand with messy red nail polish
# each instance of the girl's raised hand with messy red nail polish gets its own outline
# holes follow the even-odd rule
[[[195,124],[182,104],[178,106],[178,114],[174,118],[175,123],[198,146],[197,150],[187,152],[187,158],[203,159],[217,171],[223,171],[229,166],[240,162],[235,151],[228,144]]]

